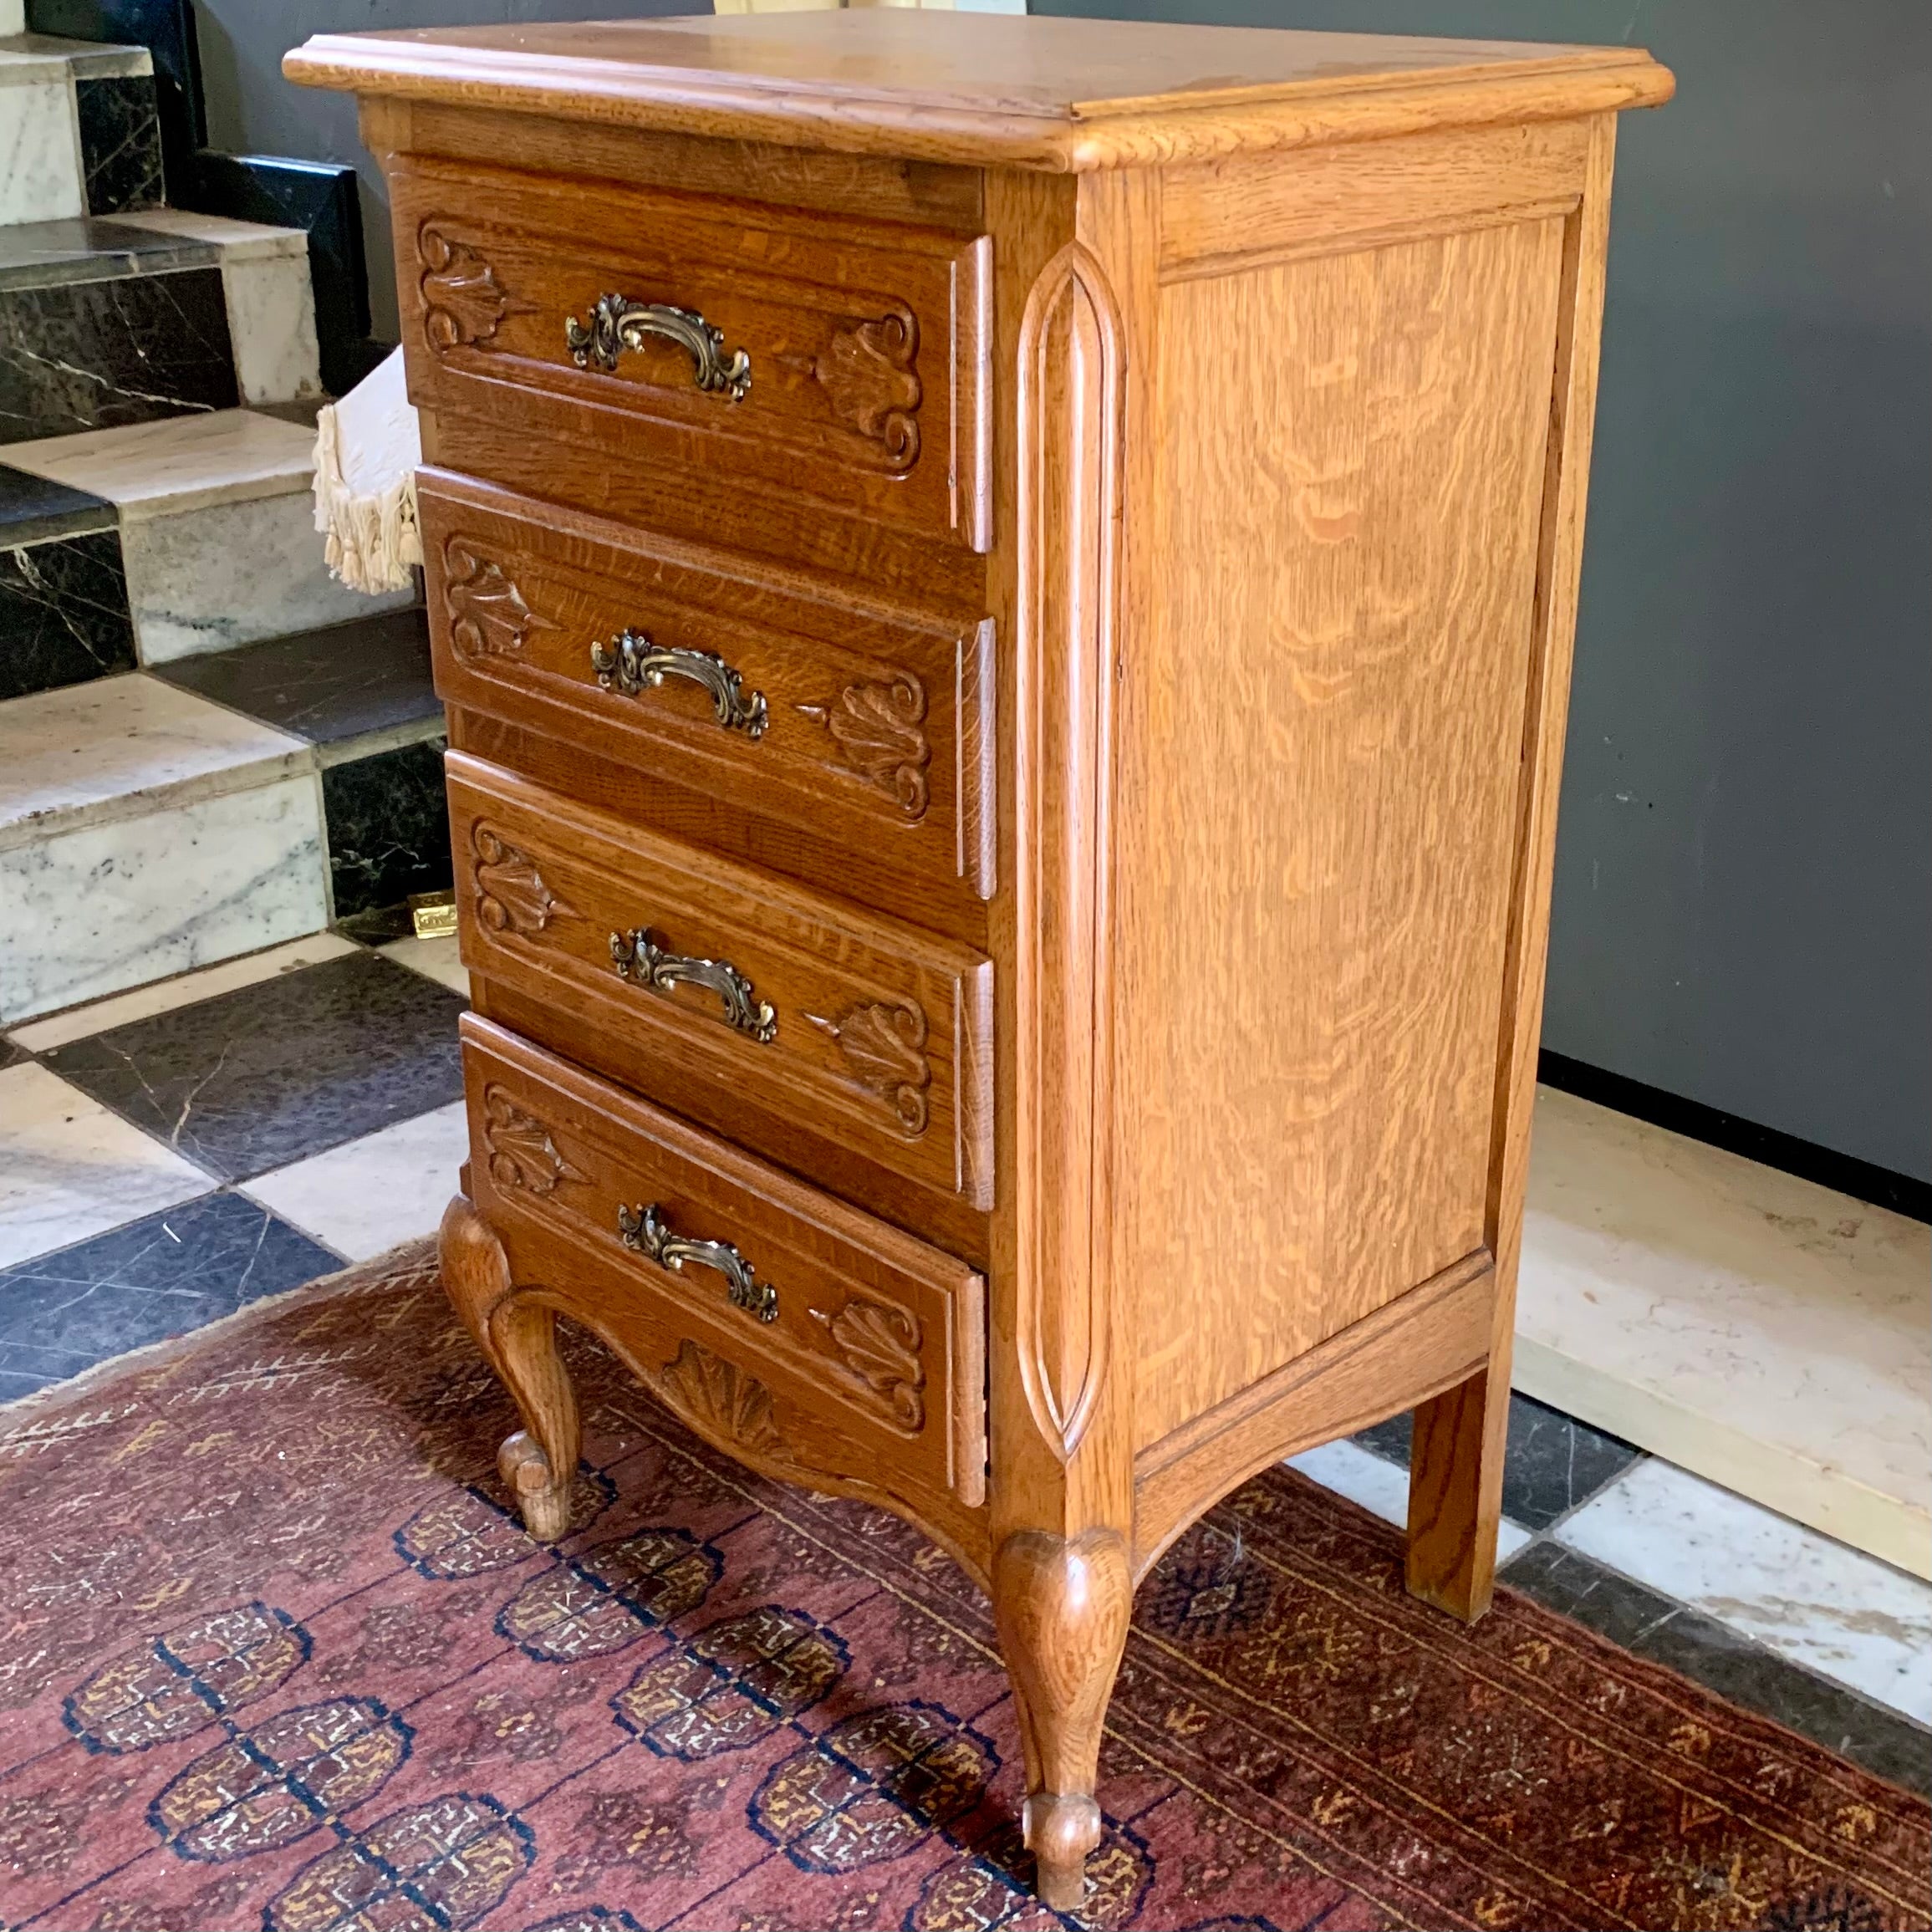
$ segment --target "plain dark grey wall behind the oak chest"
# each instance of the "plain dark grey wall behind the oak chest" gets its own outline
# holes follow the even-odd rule
[[[327,158],[355,153],[348,104],[276,71],[307,33],[680,10],[197,8],[216,145]],[[1619,135],[1544,1039],[1932,1179],[1932,4],[1036,12],[1634,41],[1675,68]]]

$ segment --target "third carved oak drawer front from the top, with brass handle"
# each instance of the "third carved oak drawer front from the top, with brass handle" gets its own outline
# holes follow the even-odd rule
[[[987,960],[462,752],[444,763],[464,964],[622,1034],[667,1088],[750,1094],[991,1206]]]

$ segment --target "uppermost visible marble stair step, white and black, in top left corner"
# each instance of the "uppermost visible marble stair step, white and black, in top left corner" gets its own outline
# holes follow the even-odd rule
[[[158,203],[149,50],[19,29],[0,14],[0,226]]]

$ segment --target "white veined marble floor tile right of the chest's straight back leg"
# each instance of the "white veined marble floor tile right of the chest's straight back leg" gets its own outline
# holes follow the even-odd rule
[[[1551,1532],[1598,1563],[1932,1723],[1932,1584],[1650,1459]]]

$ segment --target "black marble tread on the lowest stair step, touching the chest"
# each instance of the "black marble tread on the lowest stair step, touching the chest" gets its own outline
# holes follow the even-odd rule
[[[421,609],[178,657],[156,665],[155,676],[309,744],[340,744],[442,717]]]

